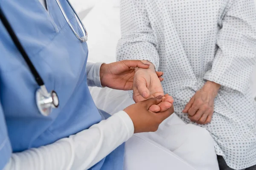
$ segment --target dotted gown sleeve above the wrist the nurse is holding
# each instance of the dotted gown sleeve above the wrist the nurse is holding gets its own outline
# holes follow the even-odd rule
[[[143,0],[121,0],[122,38],[117,45],[117,60],[148,60],[159,67],[157,39],[152,31]]]

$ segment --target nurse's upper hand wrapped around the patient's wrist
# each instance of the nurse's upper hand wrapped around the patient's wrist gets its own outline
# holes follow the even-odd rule
[[[140,60],[123,60],[110,64],[102,64],[100,68],[100,80],[102,86],[117,90],[132,90],[135,68],[148,69],[150,65]],[[157,81],[163,81],[163,72],[154,72]]]

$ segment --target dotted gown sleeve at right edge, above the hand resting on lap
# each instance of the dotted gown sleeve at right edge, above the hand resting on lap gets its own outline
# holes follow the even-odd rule
[[[204,79],[245,94],[256,64],[254,0],[230,0],[218,24],[216,45],[219,48]]]

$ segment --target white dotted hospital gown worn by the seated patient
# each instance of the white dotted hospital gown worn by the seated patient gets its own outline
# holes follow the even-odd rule
[[[256,164],[256,102],[248,82],[256,64],[254,0],[121,0],[117,59],[142,59],[163,71],[175,113],[206,80],[221,84],[212,122],[215,150],[233,169]]]

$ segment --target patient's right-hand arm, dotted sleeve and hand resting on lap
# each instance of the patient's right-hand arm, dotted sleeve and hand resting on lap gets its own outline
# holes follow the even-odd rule
[[[212,69],[205,75],[203,88],[190,99],[183,112],[198,124],[211,122],[214,99],[225,86],[241,93],[249,88],[250,75],[256,63],[256,11],[253,0],[230,0],[219,23],[219,47]]]

